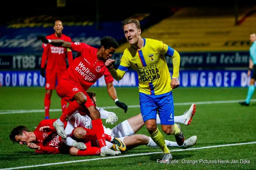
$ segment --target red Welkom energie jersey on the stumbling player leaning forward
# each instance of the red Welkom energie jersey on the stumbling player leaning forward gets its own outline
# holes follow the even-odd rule
[[[97,57],[97,49],[85,43],[71,43],[71,50],[77,51],[79,57],[75,58],[72,66],[68,68],[66,79],[80,83],[87,90],[104,75],[105,83],[114,81],[104,61]]]

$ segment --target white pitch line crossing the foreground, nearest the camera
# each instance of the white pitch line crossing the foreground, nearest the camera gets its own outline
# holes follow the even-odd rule
[[[199,148],[176,149],[176,150],[170,150],[170,151],[171,152],[180,152],[180,151],[208,149],[208,148],[218,148],[218,147],[228,147],[228,146],[236,146],[236,145],[249,145],[249,144],[255,144],[255,143],[256,143],[256,141],[254,141],[254,142],[247,142],[247,143],[233,143],[233,144],[227,144],[227,145],[215,145],[215,146],[199,147]],[[148,152],[148,153],[130,154],[130,155],[122,155],[122,156],[112,156],[112,157],[100,157],[100,158],[93,158],[93,159],[72,160],[72,161],[67,161],[67,162],[57,162],[57,163],[49,163],[49,164],[41,164],[41,165],[31,165],[31,166],[24,166],[24,167],[13,167],[13,168],[5,168],[5,169],[0,169],[0,170],[11,170],[11,169],[43,167],[43,166],[50,166],[50,165],[70,164],[70,163],[77,163],[77,162],[87,162],[87,161],[91,161],[91,160],[113,159],[113,158],[120,158],[120,157],[142,156],[142,155],[152,155],[152,154],[157,154],[157,153],[162,153],[162,152]]]

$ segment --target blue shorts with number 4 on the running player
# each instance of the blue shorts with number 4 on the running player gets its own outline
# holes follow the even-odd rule
[[[161,124],[174,124],[174,104],[172,91],[162,95],[146,95],[140,92],[140,111],[143,121],[156,119],[158,111]]]

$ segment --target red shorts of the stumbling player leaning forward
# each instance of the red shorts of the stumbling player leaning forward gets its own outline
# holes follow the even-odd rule
[[[86,93],[84,88],[80,84],[72,82],[70,80],[62,78],[58,82],[56,92],[60,98],[63,98],[68,103],[73,101],[73,97],[77,92],[82,92],[87,97],[85,107],[88,108],[90,106],[96,106],[93,100],[91,100],[90,96]]]

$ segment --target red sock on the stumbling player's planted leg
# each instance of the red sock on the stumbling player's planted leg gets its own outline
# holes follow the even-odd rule
[[[105,141],[105,134],[104,134],[104,129],[103,129],[103,124],[101,119],[95,119],[91,121],[91,125],[93,125],[93,129],[95,130],[95,135],[96,138],[99,142],[100,148],[106,146],[106,141]]]

